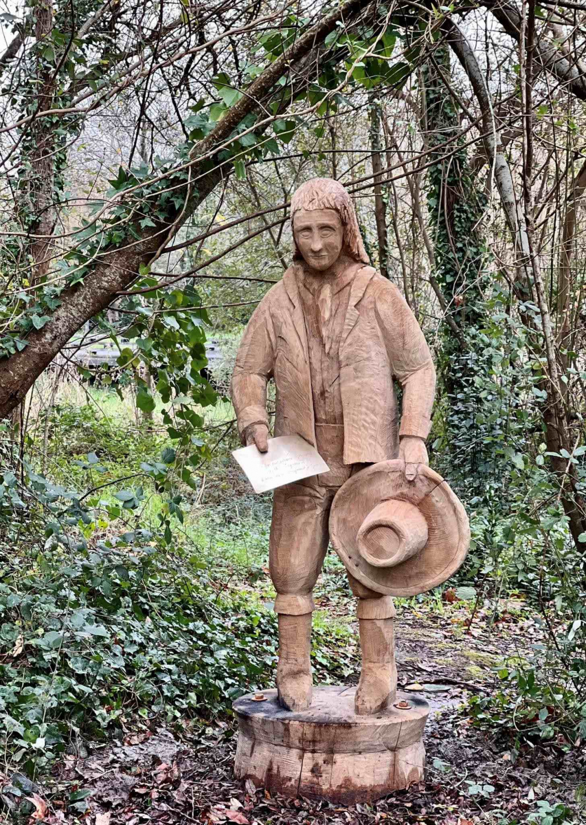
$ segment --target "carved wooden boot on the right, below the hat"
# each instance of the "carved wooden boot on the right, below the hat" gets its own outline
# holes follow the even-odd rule
[[[394,619],[359,619],[362,669],[354,697],[359,716],[377,714],[396,697]]]

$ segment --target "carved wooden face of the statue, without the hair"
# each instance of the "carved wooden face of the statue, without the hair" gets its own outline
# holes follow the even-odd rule
[[[293,220],[293,233],[299,252],[312,269],[326,271],[340,257],[344,227],[335,210],[299,210]]]

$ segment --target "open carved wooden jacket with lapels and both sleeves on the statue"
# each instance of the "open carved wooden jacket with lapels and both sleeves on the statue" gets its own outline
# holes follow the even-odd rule
[[[299,435],[315,446],[307,333],[298,266],[265,295],[251,317],[232,375],[232,403],[244,440],[251,424],[269,423],[266,386],[276,385],[274,435]],[[401,427],[393,384],[403,388]],[[372,266],[350,288],[340,342],[344,463],[396,458],[399,436],[427,438],[435,370],[423,332],[399,290]]]

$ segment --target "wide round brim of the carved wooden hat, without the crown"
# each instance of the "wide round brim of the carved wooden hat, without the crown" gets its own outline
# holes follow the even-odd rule
[[[396,567],[375,567],[359,553],[356,536],[373,507],[389,498],[418,507],[429,536],[412,558]],[[424,464],[415,480],[407,481],[398,459],[372,464],[340,487],[331,506],[330,535],[349,573],[385,596],[416,596],[438,587],[461,566],[470,546],[468,516],[448,483]]]

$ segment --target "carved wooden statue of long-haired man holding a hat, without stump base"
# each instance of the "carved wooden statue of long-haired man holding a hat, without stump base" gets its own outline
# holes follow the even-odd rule
[[[284,714],[284,724],[287,711],[289,719],[306,719],[312,706],[312,590],[330,538],[358,599],[357,717],[385,712],[396,700],[391,596],[445,581],[467,549],[462,505],[427,467],[435,370],[415,316],[396,286],[368,265],[340,183],[316,178],[300,186],[291,220],[293,266],[252,315],[232,378],[243,443],[268,449],[266,389],[273,379],[274,436],[302,436],[330,468],[274,492],[270,575],[279,615],[280,705],[274,712]],[[401,422],[395,381],[402,388]],[[254,709],[237,712],[241,719],[254,716]],[[276,729],[274,719],[270,724]],[[246,774],[242,764],[239,771]],[[404,786],[405,777],[397,781]],[[287,782],[279,788],[287,790]],[[321,785],[316,793],[347,799]]]

